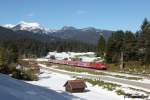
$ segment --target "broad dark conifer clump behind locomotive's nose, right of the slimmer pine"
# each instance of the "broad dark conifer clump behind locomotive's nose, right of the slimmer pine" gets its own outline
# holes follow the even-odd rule
[[[113,32],[107,42],[106,61],[117,63],[120,62],[121,52],[124,50],[124,32]]]

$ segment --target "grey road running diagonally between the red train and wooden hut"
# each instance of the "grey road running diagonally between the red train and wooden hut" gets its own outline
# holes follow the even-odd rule
[[[83,78],[100,79],[103,81],[110,81],[110,82],[125,84],[125,85],[133,86],[133,87],[136,87],[138,89],[143,89],[143,90],[150,92],[150,84],[148,84],[148,83],[142,83],[142,82],[127,80],[127,79],[115,78],[115,77],[110,77],[110,76],[105,76],[105,75],[91,75],[91,74],[82,74],[82,73],[61,71],[58,69],[54,69],[54,68],[50,68],[50,67],[44,67],[44,66],[40,65],[41,69],[46,69],[46,70],[49,70],[52,72],[66,74],[69,76],[79,76],[79,77],[83,77]]]

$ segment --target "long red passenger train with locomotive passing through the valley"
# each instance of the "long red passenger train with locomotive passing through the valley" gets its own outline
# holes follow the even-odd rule
[[[67,58],[63,60],[50,59],[49,62],[54,64],[71,65],[71,66],[98,69],[98,70],[107,69],[106,64],[102,62],[82,62],[81,59],[76,59],[76,58],[70,58],[70,59],[71,60],[68,60]]]

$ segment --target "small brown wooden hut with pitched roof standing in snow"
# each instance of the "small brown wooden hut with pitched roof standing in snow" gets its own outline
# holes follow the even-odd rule
[[[87,86],[82,80],[68,80],[64,87],[68,92],[84,92]]]

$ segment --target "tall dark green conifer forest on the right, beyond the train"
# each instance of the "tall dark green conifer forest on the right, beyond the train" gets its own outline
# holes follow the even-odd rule
[[[108,40],[100,36],[97,55],[105,57],[106,63],[114,66],[122,63],[120,70],[124,67],[133,70],[139,67],[142,71],[150,69],[150,22],[145,18],[136,33],[119,30],[113,32]]]

